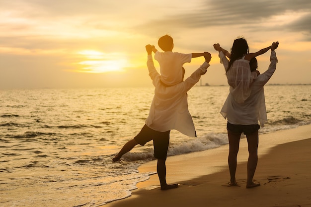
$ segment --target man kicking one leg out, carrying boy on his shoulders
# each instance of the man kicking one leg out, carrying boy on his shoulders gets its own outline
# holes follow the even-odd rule
[[[210,53],[204,53],[205,61],[199,69],[194,71],[190,77],[176,85],[166,87],[160,80],[160,74],[156,71],[152,50],[154,46],[147,45],[148,53],[147,66],[149,76],[155,86],[155,95],[150,108],[150,113],[145,121],[141,132],[129,140],[112,159],[118,161],[122,155],[129,152],[137,144],[145,145],[154,141],[154,156],[157,158],[157,175],[159,177],[161,190],[177,188],[178,184],[168,185],[166,183],[166,156],[169,144],[170,130],[175,129],[187,136],[196,137],[192,117],[188,110],[187,91],[196,84],[201,75],[205,74],[210,66]]]

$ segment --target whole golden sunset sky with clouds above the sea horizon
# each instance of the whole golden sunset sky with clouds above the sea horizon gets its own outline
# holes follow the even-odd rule
[[[250,52],[279,41],[269,83],[311,83],[310,0],[0,0],[0,89],[151,86],[145,45],[165,34],[173,52],[212,53],[204,84],[227,84],[213,44],[237,37]]]

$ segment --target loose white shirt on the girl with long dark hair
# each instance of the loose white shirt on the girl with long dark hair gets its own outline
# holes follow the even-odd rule
[[[232,67],[226,72],[228,84],[231,86],[230,92],[237,103],[243,103],[249,97],[250,86],[257,77],[256,72],[250,72],[249,61],[244,57],[234,61]],[[225,68],[227,69],[228,65]]]

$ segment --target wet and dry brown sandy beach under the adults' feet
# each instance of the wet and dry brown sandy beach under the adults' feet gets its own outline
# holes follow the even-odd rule
[[[105,207],[311,207],[311,125],[259,136],[254,180],[261,186],[246,189],[247,142],[242,138],[236,179],[228,187],[228,145],[168,157],[167,183],[177,189],[161,191],[157,175],[137,185],[132,196]],[[156,171],[156,161],[141,172]]]

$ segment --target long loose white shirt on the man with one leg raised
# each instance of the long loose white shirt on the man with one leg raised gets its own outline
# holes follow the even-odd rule
[[[193,120],[188,110],[187,91],[200,80],[202,73],[206,72],[210,65],[204,62],[185,81],[170,87],[165,87],[161,83],[152,55],[148,55],[147,66],[155,86],[155,95],[146,125],[159,132],[175,129],[184,135],[196,137]]]

